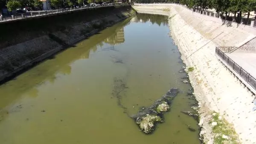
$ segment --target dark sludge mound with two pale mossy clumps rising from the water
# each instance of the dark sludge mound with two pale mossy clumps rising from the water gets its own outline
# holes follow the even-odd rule
[[[163,114],[171,108],[172,100],[179,90],[171,88],[165,95],[154,102],[150,107],[142,107],[136,115],[132,115],[140,130],[145,134],[154,132],[157,123],[164,122]]]

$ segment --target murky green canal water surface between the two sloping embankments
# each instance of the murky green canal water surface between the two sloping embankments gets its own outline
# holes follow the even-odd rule
[[[167,17],[137,14],[1,85],[0,144],[199,144],[168,35]],[[145,135],[130,116],[171,87],[180,92],[165,122]]]

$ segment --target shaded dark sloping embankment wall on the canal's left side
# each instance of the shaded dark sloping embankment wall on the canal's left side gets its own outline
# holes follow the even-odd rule
[[[135,14],[130,6],[1,24],[0,81]]]

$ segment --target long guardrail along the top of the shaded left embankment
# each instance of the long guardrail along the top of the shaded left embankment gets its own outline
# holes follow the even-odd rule
[[[109,7],[109,6],[128,6],[128,3],[122,3],[122,4],[113,4],[113,5],[106,5],[106,6],[80,6],[75,8],[65,8],[65,9],[55,9],[55,10],[47,10],[47,11],[38,11],[38,12],[26,12],[24,14],[20,15],[12,15],[11,17],[1,17],[0,16],[0,23],[11,21],[11,20],[21,20],[29,17],[39,17],[49,14],[58,14],[58,13],[65,13],[65,12],[71,12],[71,11],[77,11],[77,10],[83,10],[83,9],[95,9],[95,8],[102,8],[102,7]]]

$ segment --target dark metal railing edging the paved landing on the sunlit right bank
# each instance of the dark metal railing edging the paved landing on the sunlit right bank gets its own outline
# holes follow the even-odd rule
[[[256,79],[246,72],[241,66],[231,60],[225,53],[236,47],[216,47],[215,53],[226,62],[241,78],[244,79],[253,89],[256,89]],[[232,50],[231,50],[232,51]]]

